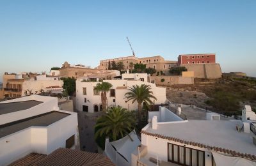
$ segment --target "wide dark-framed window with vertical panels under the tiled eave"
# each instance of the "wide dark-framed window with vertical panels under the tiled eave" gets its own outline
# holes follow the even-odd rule
[[[168,143],[168,161],[181,165],[205,165],[205,152]]]

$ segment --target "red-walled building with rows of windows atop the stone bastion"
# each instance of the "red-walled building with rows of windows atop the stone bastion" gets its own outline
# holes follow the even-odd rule
[[[180,64],[204,64],[216,63],[216,54],[184,54],[178,57],[178,65]]]

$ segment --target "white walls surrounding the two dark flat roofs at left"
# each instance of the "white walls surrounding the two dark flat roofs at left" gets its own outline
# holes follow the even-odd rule
[[[74,137],[74,146],[72,148],[75,148],[78,143],[77,114],[58,110],[57,98],[32,95],[0,102],[0,105],[2,103],[25,102],[30,100],[36,100],[42,103],[26,110],[1,114],[0,123],[12,126],[10,122],[19,123],[20,119],[25,120],[25,118],[33,118],[52,111],[62,112],[61,114],[65,113],[67,116],[54,121],[48,126],[30,126],[18,132],[0,137],[0,165],[8,165],[30,153],[48,155],[59,147],[65,147],[66,140],[70,137]]]

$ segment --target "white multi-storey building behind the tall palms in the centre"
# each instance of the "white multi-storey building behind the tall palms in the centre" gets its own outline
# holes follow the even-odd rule
[[[138,75],[138,77],[137,77]],[[132,79],[132,77],[133,79]],[[140,76],[140,77],[139,77]],[[150,79],[149,79],[150,80]],[[166,103],[166,89],[157,87],[156,84],[148,82],[147,73],[144,74],[125,74],[123,79],[104,80],[112,84],[111,90],[107,93],[108,107],[121,106],[127,110],[138,109],[138,103],[127,102],[124,97],[129,87],[134,85],[147,84],[152,89],[153,95],[157,100],[152,100],[155,104]],[[83,82],[83,79],[76,80],[76,109],[85,112],[97,112],[101,110],[100,92],[95,91],[94,87],[100,82]]]

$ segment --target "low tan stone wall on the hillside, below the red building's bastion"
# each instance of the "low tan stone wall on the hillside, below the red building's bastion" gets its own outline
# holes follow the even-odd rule
[[[162,82],[161,80],[164,79]],[[172,85],[189,85],[194,84],[194,77],[181,77],[181,76],[151,76],[157,86],[172,86]]]

